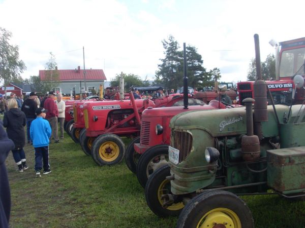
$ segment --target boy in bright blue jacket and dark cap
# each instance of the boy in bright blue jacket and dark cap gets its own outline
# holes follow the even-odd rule
[[[47,111],[44,108],[37,108],[35,111],[37,118],[32,121],[31,128],[29,129],[29,135],[35,149],[36,177],[41,177],[42,161],[43,174],[51,172],[49,164],[49,138],[51,137],[52,130],[49,122],[44,119]]]

